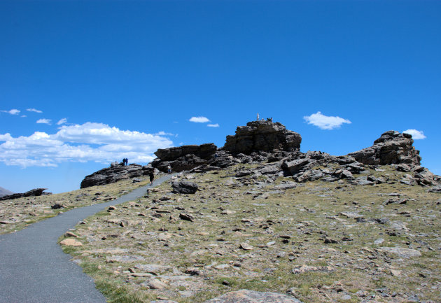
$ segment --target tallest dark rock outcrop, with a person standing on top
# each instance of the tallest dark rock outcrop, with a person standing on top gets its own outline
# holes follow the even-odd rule
[[[287,130],[279,122],[251,121],[246,126],[239,126],[235,136],[227,136],[223,150],[232,155],[253,152],[272,152],[273,150],[300,150],[302,136]]]

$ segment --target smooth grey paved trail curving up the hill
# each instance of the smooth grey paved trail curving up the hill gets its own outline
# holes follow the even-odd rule
[[[169,180],[167,175],[153,187]],[[133,190],[110,202],[66,211],[59,216],[29,225],[13,234],[0,235],[1,303],[105,303],[90,276],[69,261],[57,239],[80,220],[108,206],[144,196],[150,186]]]

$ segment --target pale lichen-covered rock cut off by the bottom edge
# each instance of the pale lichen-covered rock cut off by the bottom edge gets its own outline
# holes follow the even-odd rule
[[[259,292],[254,290],[237,290],[225,293],[221,297],[205,301],[205,303],[302,303],[289,295],[281,293]]]

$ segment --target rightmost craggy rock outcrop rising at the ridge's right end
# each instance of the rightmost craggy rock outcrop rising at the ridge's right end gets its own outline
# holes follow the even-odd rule
[[[350,153],[348,156],[369,165],[419,165],[421,157],[419,150],[414,148],[413,143],[412,135],[390,130],[381,134],[379,139],[374,141],[373,146]]]

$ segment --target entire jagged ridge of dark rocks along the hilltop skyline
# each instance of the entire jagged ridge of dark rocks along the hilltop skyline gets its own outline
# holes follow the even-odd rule
[[[381,134],[374,145],[344,156],[309,151],[300,152],[302,137],[287,130],[279,122],[251,121],[246,126],[237,127],[235,136],[227,136],[225,146],[217,149],[214,143],[200,146],[179,146],[159,149],[158,156],[151,162],[150,169],[172,171],[204,172],[224,169],[236,164],[260,164],[252,171],[237,171],[236,177],[260,175],[292,176],[294,181],[338,181],[346,179],[349,183],[374,185],[386,183],[384,178],[358,176],[367,170],[367,165],[392,165],[398,171],[408,174],[401,183],[409,185],[436,186],[441,182],[428,169],[421,167],[419,151],[413,146],[410,134],[389,131]],[[134,178],[148,174],[147,167],[131,164],[128,167],[113,165],[87,176],[81,188],[116,182],[122,178]]]

